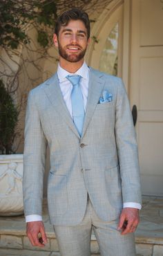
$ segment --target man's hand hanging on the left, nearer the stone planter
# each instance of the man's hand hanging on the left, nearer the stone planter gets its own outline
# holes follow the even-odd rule
[[[44,247],[48,242],[44,223],[42,221],[30,221],[26,225],[26,232],[32,246]],[[39,238],[39,234],[41,237]]]

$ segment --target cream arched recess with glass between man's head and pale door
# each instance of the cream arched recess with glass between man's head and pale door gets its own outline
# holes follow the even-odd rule
[[[93,26],[87,62],[93,68],[122,77],[123,1],[106,8]]]

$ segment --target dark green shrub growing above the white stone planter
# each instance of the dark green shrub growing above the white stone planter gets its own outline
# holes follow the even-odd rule
[[[0,152],[1,154],[13,153],[12,144],[15,140],[15,129],[18,122],[19,111],[0,80]]]

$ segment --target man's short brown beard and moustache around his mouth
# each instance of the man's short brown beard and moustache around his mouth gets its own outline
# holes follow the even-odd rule
[[[78,46],[78,45],[71,45],[71,46]],[[81,48],[81,47],[79,47],[79,48]],[[72,54],[68,55],[68,53],[66,53],[64,48],[58,42],[58,51],[59,51],[59,55],[61,57],[63,57],[64,60],[67,60],[68,62],[79,62],[80,60],[82,60],[84,58],[84,55],[86,53],[86,48],[84,50],[82,50],[79,54],[72,53]]]

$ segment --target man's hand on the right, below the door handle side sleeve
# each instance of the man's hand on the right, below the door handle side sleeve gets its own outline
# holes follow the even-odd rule
[[[139,222],[140,218],[138,209],[124,208],[119,218],[117,230],[122,230],[122,235],[135,232]]]

